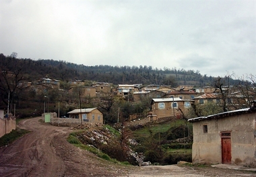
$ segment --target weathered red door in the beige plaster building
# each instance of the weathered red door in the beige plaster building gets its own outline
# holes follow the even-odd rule
[[[231,164],[230,137],[222,137],[222,164]]]

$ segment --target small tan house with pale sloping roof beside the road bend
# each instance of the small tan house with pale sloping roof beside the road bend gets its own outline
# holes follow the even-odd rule
[[[103,124],[103,114],[98,108],[75,109],[67,114],[69,118],[83,118],[83,122]]]

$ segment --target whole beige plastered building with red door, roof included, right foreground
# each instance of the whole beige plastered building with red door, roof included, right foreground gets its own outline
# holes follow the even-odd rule
[[[256,109],[191,118],[193,164],[256,167]]]

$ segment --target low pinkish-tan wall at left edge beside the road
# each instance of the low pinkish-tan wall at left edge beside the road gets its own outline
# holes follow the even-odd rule
[[[10,133],[12,130],[16,129],[16,118],[14,116],[9,116],[8,118],[0,118],[0,137]]]

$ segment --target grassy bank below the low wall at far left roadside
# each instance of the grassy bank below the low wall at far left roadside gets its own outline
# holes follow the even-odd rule
[[[3,137],[0,138],[0,147],[9,145],[13,141],[15,141],[15,139],[18,139],[19,137],[22,137],[23,135],[29,132],[30,131],[24,129],[16,129],[11,131],[10,133],[3,135]]]

